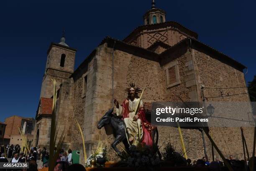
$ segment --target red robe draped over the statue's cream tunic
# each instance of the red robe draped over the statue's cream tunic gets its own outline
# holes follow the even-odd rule
[[[122,104],[123,107],[123,118],[129,117],[129,100],[125,99]],[[144,143],[147,146],[152,147],[153,141],[151,136],[151,130],[154,129],[154,127],[151,125],[150,122],[146,120],[145,110],[144,107],[141,107],[138,110],[138,117],[141,119],[142,129],[143,129],[143,137],[142,137],[142,143]]]

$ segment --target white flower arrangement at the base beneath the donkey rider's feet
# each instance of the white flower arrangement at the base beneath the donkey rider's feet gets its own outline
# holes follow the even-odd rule
[[[156,153],[156,148],[131,145],[128,151],[123,151],[120,158],[128,167],[154,167],[160,163]]]

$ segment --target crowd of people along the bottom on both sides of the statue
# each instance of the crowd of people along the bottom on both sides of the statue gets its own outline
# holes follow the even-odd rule
[[[56,152],[56,148],[54,148],[54,153]],[[43,147],[43,149],[38,146],[32,147],[30,149],[30,152],[28,154],[24,154],[20,148],[20,145],[0,145],[0,162],[8,162],[8,159],[10,160],[10,163],[18,163],[18,162],[29,162],[31,165],[31,168],[35,168],[37,170],[37,160],[41,160],[43,162],[42,167],[48,167],[49,163],[49,152],[46,151],[46,147]],[[7,157],[7,158],[6,158]],[[249,161],[246,158],[246,160],[235,160],[233,156],[229,156],[229,159],[225,159],[230,166],[233,168],[234,171],[247,171],[249,166]],[[83,170],[83,166],[72,164],[72,150],[69,149],[68,151],[64,151],[64,149],[61,149],[59,156],[57,157],[56,166],[54,168],[54,171],[71,171],[72,168],[81,167]],[[191,161],[191,159],[187,159],[187,166],[192,167],[210,167],[211,171],[221,171],[221,167],[225,166],[225,163],[223,161],[220,161],[219,158],[215,158],[215,161],[208,161],[207,157],[202,157],[201,159]],[[34,171],[36,171],[34,170]]]

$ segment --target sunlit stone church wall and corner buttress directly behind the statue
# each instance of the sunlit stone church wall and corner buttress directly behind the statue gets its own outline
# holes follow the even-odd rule
[[[183,53],[183,54],[182,54]],[[184,54],[185,53],[185,54]],[[131,82],[136,83],[138,87],[143,88],[146,85],[145,92],[143,94],[143,102],[153,101],[186,101],[189,100],[188,93],[190,87],[186,87],[184,81],[187,76],[187,56],[186,51],[179,52],[179,73],[181,84],[166,88],[166,73],[165,67],[160,66],[156,61],[149,61],[145,58],[134,56],[132,54],[125,53],[123,51],[115,50],[114,52],[114,98],[120,103],[127,97],[124,89],[128,87]],[[177,55],[177,54],[175,54]],[[174,56],[175,56],[174,55]],[[92,130],[88,136],[90,137],[90,143],[97,144],[99,137],[103,140],[108,138],[108,147],[110,148],[110,158],[117,159],[113,149],[110,147],[110,143],[113,141],[113,135],[111,130],[105,128],[105,131],[99,131],[96,128],[97,121],[100,120],[102,115],[112,106],[112,49],[106,45],[102,45],[98,48],[97,55],[97,69],[96,69],[96,89],[95,96],[93,97],[94,109],[91,125],[85,129],[85,132]],[[168,61],[167,61],[168,64]],[[86,115],[85,115],[86,116]],[[88,121],[90,122],[90,121]],[[87,126],[85,124],[85,126]],[[179,143],[179,133],[177,128],[159,127],[159,145],[163,144],[167,139],[175,142],[177,151],[181,151],[181,145]],[[188,152],[188,156],[203,156],[202,138],[201,133],[198,130],[186,130],[182,129],[184,133],[185,145],[187,148],[196,148],[200,151],[191,150]],[[99,136],[100,133],[100,136]],[[87,136],[87,134],[85,135]],[[197,142],[191,144],[193,140]],[[89,148],[90,150],[90,148]]]

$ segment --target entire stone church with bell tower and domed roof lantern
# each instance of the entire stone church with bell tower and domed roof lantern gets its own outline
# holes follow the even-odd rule
[[[243,64],[197,40],[197,33],[173,21],[166,21],[165,11],[154,6],[143,16],[144,25],[137,27],[123,41],[106,37],[74,70],[76,49],[65,43],[51,43],[47,51],[46,70],[36,114],[35,145],[49,147],[53,85],[56,79],[57,125],[66,128],[64,148],[82,152],[82,138],[76,125],[81,125],[87,152],[99,138],[108,139],[110,160],[115,153],[110,146],[111,129],[97,129],[97,122],[113,106],[127,97],[129,83],[146,85],[143,102],[150,110],[151,102],[202,102],[201,87],[246,87]],[[211,101],[249,102],[246,88],[207,89],[205,97],[222,94],[236,96],[206,99]],[[225,156],[243,157],[240,128],[210,128],[212,138]],[[166,139],[176,142],[181,151],[177,128],[158,127],[159,144]],[[187,156],[202,158],[202,133],[197,129],[182,129]],[[252,149],[253,128],[245,128],[248,148]],[[175,145],[175,144],[174,144]],[[211,159],[211,143],[206,138],[206,151]],[[88,154],[87,154],[88,155]],[[216,157],[218,153],[215,151]],[[83,161],[83,155],[80,156]]]

